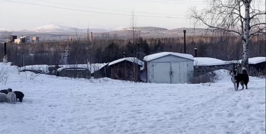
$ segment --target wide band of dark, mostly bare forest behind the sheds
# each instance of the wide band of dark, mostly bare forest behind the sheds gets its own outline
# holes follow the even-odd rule
[[[76,51],[69,52],[68,57],[64,57],[65,49],[68,48],[65,42],[43,42],[40,44],[14,44],[7,43],[8,60],[15,65],[22,66],[24,53],[24,65],[64,64],[67,59],[68,64],[87,63],[107,63],[126,57],[136,57],[139,52],[139,59],[145,55],[157,52],[184,52],[183,38],[137,38],[135,43],[132,40],[87,40],[73,41],[69,43],[69,48]],[[265,57],[265,36],[260,35],[251,38],[249,41],[249,57]],[[198,57],[213,57],[221,60],[242,59],[242,41],[237,36],[223,37],[187,37],[186,52],[194,55],[194,49],[198,48]],[[4,45],[0,45],[0,58],[4,56]],[[65,59],[66,58],[66,59]]]

